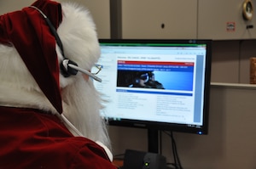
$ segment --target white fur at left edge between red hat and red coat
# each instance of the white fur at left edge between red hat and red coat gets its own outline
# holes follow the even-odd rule
[[[0,93],[0,105],[56,112],[16,49],[3,44],[0,44]]]

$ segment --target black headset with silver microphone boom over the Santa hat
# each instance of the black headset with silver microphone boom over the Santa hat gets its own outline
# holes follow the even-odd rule
[[[101,78],[99,78],[98,76],[90,73],[90,71],[88,71],[88,70],[84,70],[84,69],[80,68],[77,63],[75,63],[74,61],[72,61],[70,59],[67,59],[65,57],[63,45],[62,45],[62,42],[61,42],[61,38],[59,37],[57,31],[55,30],[54,25],[51,24],[48,17],[43,13],[42,10],[40,10],[39,8],[37,8],[35,6],[30,6],[30,8],[35,8],[36,10],[38,10],[38,12],[40,14],[42,14],[42,16],[44,17],[44,20],[46,21],[47,25],[49,25],[49,30],[51,31],[51,33],[55,37],[55,40],[56,40],[56,43],[57,43],[58,47],[61,49],[61,54],[64,58],[61,61],[61,64],[60,64],[61,75],[64,76],[64,77],[75,76],[75,75],[77,75],[78,71],[80,71],[80,72],[84,73],[85,75],[92,77],[97,82],[102,82]]]

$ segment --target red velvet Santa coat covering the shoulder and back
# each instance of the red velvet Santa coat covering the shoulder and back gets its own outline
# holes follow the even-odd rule
[[[101,146],[73,137],[54,115],[0,107],[0,168],[114,168]]]

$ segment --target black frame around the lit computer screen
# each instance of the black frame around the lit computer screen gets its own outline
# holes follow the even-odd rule
[[[137,121],[122,119],[121,121],[113,121],[108,119],[108,125],[118,127],[137,127],[146,129],[157,129],[172,132],[189,132],[195,134],[208,134],[209,123],[209,99],[210,99],[210,82],[211,82],[211,61],[212,61],[212,40],[210,39],[99,39],[99,43],[155,43],[155,44],[206,44],[207,59],[204,85],[204,105],[203,105],[203,122],[200,127],[188,124],[166,123],[160,121]]]

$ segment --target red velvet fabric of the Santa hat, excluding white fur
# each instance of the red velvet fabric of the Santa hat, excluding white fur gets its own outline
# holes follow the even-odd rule
[[[38,0],[34,8],[23,8],[0,18],[0,43],[13,45],[49,102],[62,113],[60,68],[56,41],[38,8],[58,28],[62,20],[61,4]]]

